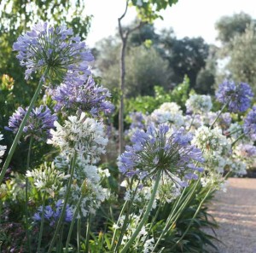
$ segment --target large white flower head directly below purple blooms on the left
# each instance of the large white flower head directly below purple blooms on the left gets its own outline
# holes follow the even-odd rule
[[[49,144],[61,149],[61,154],[67,158],[73,158],[75,153],[85,159],[85,164],[95,164],[105,147],[108,138],[104,133],[104,125],[93,118],[86,118],[82,112],[78,116],[70,116],[61,126],[55,121],[56,129],[51,129]]]

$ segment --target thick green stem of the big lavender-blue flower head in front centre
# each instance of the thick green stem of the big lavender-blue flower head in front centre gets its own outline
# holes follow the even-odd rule
[[[129,250],[129,248],[131,247],[131,244],[133,243],[133,241],[137,238],[138,233],[140,233],[141,229],[143,228],[143,225],[145,224],[145,222],[148,220],[148,216],[150,213],[150,210],[152,209],[153,203],[154,203],[154,198],[160,183],[160,176],[161,176],[161,172],[162,170],[158,170],[157,175],[156,175],[156,179],[154,182],[154,188],[153,188],[153,192],[151,194],[151,198],[148,202],[148,206],[147,209],[144,212],[144,216],[143,219],[140,221],[140,223],[137,225],[137,229],[135,230],[135,232],[131,235],[131,239],[129,239],[129,241],[127,242],[127,244],[125,244],[125,247],[123,248],[123,250],[120,251],[120,253],[125,253],[127,250]]]

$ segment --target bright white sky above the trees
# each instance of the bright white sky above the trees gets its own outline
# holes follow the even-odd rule
[[[117,30],[118,18],[125,10],[125,0],[84,0],[85,13],[92,14],[87,43],[94,47],[103,37]],[[156,31],[172,27],[177,38],[203,37],[207,43],[215,43],[217,31],[214,24],[224,15],[250,14],[256,19],[256,0],[178,0],[161,14],[164,20],[155,20]],[[124,24],[136,17],[135,9],[128,9]]]

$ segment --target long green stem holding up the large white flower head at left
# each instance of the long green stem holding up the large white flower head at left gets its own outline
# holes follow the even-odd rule
[[[64,203],[63,203],[63,206],[62,206],[62,210],[61,210],[61,216],[57,222],[57,226],[55,228],[55,233],[53,235],[53,238],[51,239],[51,242],[49,244],[49,250],[47,251],[48,253],[50,253],[54,247],[54,244],[55,244],[55,240],[58,236],[58,233],[59,233],[59,230],[61,228],[61,222],[65,216],[65,213],[66,213],[66,207],[67,207],[67,199],[69,197],[69,192],[70,192],[70,189],[71,189],[71,185],[73,183],[73,173],[74,173],[74,169],[75,169],[75,164],[76,164],[76,159],[77,159],[77,154],[75,153],[74,156],[73,156],[73,159],[72,159],[72,165],[71,165],[71,171],[70,171],[70,177],[69,177],[69,181],[68,181],[68,185],[67,185],[67,193],[66,193],[66,197],[64,199]]]

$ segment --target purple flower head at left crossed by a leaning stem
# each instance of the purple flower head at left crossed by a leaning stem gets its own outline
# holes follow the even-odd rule
[[[27,108],[24,110],[22,107],[13,113],[9,118],[9,126],[5,129],[17,133],[20,124],[26,115]],[[47,106],[39,106],[32,109],[30,117],[28,118],[23,132],[26,137],[33,137],[36,140],[46,140],[50,137],[49,130],[54,128],[54,122],[57,119],[55,114],[52,114]]]

